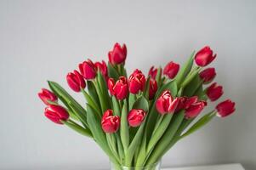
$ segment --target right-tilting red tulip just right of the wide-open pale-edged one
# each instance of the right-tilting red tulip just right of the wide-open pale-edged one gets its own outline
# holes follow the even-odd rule
[[[194,103],[193,105],[185,109],[185,118],[191,119],[198,116],[206,105],[206,101],[198,101]]]

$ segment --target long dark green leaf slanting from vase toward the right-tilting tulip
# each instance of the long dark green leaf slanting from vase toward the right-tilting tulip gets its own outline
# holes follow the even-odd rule
[[[181,122],[183,121],[184,115],[184,111],[179,111],[179,113],[174,114],[174,117],[169,123],[169,126],[166,129],[165,133],[162,135],[162,138],[157,142],[154,150],[152,150],[151,156],[148,157],[146,165],[151,165],[162,157],[165,149],[171,143],[172,139],[174,138],[174,134],[178,130]]]

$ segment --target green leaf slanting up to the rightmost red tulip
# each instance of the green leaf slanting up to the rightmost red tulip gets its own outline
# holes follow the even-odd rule
[[[210,122],[213,119],[214,116],[216,116],[216,111],[211,111],[208,114],[206,114],[205,116],[202,116],[184,134],[182,134],[180,138],[184,138],[184,137],[190,135],[191,133],[196,132],[199,128],[203,127],[208,122]]]

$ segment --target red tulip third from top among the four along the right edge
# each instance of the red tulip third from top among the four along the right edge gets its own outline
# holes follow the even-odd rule
[[[214,82],[211,86],[209,86],[206,90],[206,94],[211,101],[215,101],[220,98],[223,94],[222,86],[219,86],[216,82]]]

